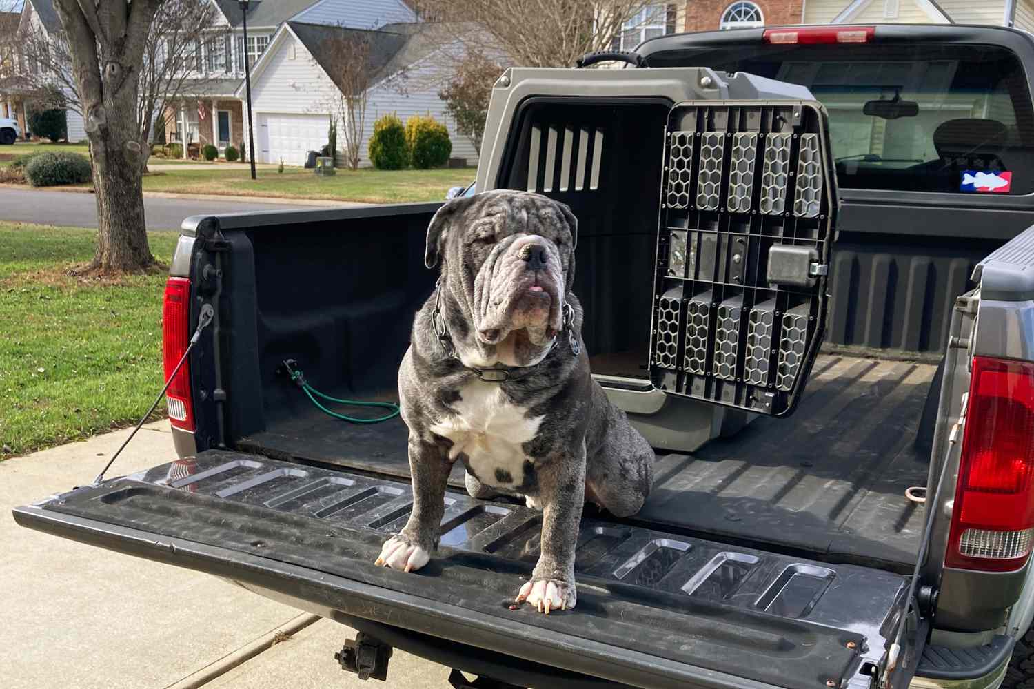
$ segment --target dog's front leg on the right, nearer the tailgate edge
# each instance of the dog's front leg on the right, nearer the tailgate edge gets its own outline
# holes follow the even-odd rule
[[[585,443],[570,456],[548,458],[537,478],[543,511],[542,550],[517,602],[526,600],[549,615],[550,609],[568,609],[578,601],[575,546],[585,502]]]

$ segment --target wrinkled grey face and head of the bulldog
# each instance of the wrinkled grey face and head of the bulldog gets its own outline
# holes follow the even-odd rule
[[[531,366],[564,325],[574,280],[577,223],[545,196],[490,191],[444,206],[427,231],[427,264],[440,254],[469,336],[454,344],[467,366]]]

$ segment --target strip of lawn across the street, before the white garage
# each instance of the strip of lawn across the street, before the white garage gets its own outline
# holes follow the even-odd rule
[[[339,169],[318,178],[311,169],[286,167],[283,173],[260,169],[252,181],[247,165],[212,169],[161,170],[144,178],[145,191],[238,196],[279,196],[330,200],[398,203],[439,201],[450,187],[466,186],[477,170],[463,169]]]

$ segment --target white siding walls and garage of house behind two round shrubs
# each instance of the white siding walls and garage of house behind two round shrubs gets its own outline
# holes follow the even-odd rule
[[[326,0],[332,2],[333,0]],[[396,113],[405,121],[413,115],[432,115],[446,124],[452,138],[453,158],[464,158],[477,164],[477,152],[470,140],[456,131],[455,123],[445,114],[445,102],[437,96],[442,70],[447,61],[435,55],[448,46],[427,50],[433,41],[419,38],[421,26],[390,25],[368,32],[376,40],[377,53],[384,63],[378,83],[367,98],[366,122],[360,144],[361,163],[369,165],[367,149],[373,132],[373,122],[387,113]],[[300,22],[284,24],[251,73],[251,101],[255,127],[255,160],[301,165],[310,150],[327,143],[327,130],[338,90],[325,68],[320,52],[320,36],[342,31],[314,27]],[[413,62],[406,59],[413,57]],[[323,62],[323,64],[321,64]],[[393,71],[396,70],[397,71]],[[404,72],[402,84],[397,75]],[[402,88],[400,88],[402,87]],[[243,95],[243,88],[238,90]],[[344,123],[338,121],[338,131]],[[339,149],[343,136],[338,134]],[[343,150],[340,151],[343,157]]]

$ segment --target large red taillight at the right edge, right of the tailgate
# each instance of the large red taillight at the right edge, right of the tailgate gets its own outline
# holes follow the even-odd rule
[[[945,564],[1011,571],[1034,536],[1034,364],[973,357]]]

